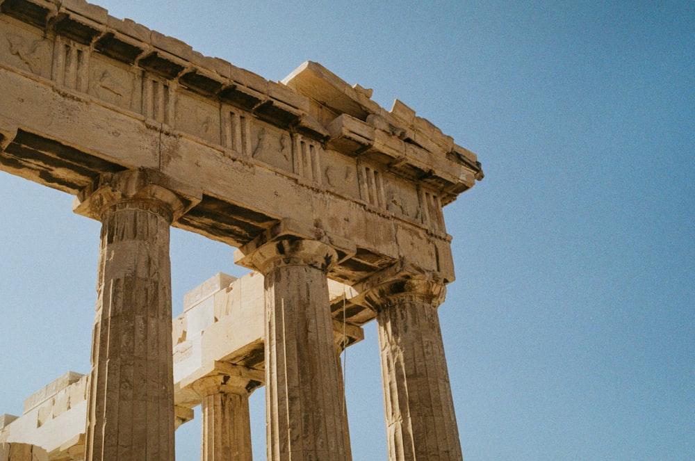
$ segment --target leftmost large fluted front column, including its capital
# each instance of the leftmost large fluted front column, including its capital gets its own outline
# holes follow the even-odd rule
[[[85,460],[174,460],[169,227],[156,172],[102,175],[75,211],[101,220]]]

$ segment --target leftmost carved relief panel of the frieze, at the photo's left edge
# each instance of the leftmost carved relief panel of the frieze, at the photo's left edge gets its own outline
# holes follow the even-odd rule
[[[1,60],[17,69],[51,78],[52,45],[42,35],[24,24],[0,21]]]

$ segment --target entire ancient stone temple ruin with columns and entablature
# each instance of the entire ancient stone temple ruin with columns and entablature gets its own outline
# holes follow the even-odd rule
[[[92,370],[0,417],[0,460],[350,460],[338,355],[376,320],[389,460],[460,460],[437,307],[475,154],[317,63],[280,83],[81,0],[0,0],[0,168],[101,222]],[[170,226],[237,248],[172,321]],[[410,389],[410,391],[409,391]],[[417,389],[417,391],[412,391]],[[343,405],[336,405],[336,401]]]

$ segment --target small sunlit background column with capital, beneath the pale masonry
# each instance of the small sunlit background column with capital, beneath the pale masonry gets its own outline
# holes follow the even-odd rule
[[[262,372],[237,369],[193,383],[202,399],[202,461],[252,461],[249,396]]]

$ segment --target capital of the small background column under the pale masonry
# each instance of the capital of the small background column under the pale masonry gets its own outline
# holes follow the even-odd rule
[[[250,369],[245,366],[224,364],[221,369],[210,375],[195,380],[190,387],[201,397],[213,394],[250,395],[263,385],[263,370]]]

